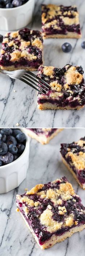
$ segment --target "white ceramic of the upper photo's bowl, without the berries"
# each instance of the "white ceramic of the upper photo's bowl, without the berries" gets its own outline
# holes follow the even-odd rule
[[[17,30],[24,28],[32,20],[35,0],[29,0],[15,8],[0,8],[0,30]]]

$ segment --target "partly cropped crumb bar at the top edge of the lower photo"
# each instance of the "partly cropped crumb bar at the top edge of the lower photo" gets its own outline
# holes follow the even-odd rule
[[[32,128],[32,129],[26,129],[27,134],[33,138],[39,141],[41,144],[47,144],[51,139],[53,139],[60,131],[63,129],[57,129],[57,128]]]

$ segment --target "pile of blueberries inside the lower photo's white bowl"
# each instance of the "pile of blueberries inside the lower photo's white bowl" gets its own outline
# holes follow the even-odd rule
[[[0,166],[12,163],[22,155],[26,135],[19,129],[0,129]]]

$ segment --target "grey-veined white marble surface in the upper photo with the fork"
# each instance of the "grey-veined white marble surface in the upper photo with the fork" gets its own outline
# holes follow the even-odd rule
[[[36,0],[33,20],[28,28],[41,30],[41,3],[76,4],[80,13],[82,39],[44,40],[44,65],[63,67],[66,64],[82,65],[85,71],[85,0]],[[0,34],[5,34],[1,32]],[[63,53],[62,43],[70,42],[72,50]],[[15,92],[14,92],[15,90]],[[85,127],[85,108],[82,110],[38,110],[37,93],[20,81],[0,75],[0,127]]]

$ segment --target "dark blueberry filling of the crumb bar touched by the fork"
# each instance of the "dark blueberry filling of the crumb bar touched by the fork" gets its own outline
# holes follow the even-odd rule
[[[85,84],[84,78],[82,77],[82,81],[79,84],[68,85],[67,89],[64,89],[64,85],[66,84],[66,71],[69,70],[71,65],[66,65],[64,68],[54,68],[53,76],[47,76],[43,73],[44,67],[39,67],[39,77],[46,81],[48,84],[57,80],[57,83],[62,85],[61,94],[58,97],[54,98],[51,96],[51,93],[55,93],[56,91],[49,87],[48,93],[46,93],[46,97],[39,97],[38,93],[38,104],[44,104],[49,102],[51,104],[56,104],[60,107],[70,106],[72,108],[76,108],[77,106],[85,105]],[[83,75],[84,71],[82,67],[76,67],[76,71]],[[75,71],[75,72],[76,72]],[[77,75],[78,77],[79,75]]]

